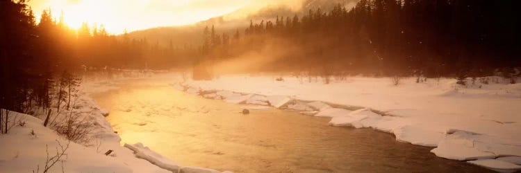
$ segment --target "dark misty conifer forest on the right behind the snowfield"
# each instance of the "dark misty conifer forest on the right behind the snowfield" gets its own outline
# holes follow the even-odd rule
[[[372,75],[518,74],[519,1],[361,0],[304,15],[250,21],[233,37],[204,30],[199,62],[276,54],[262,71]],[[241,37],[242,36],[242,37]],[[215,63],[214,63],[215,64]]]

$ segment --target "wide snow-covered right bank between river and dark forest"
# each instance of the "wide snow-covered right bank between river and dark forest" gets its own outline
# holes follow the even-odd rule
[[[454,79],[350,77],[323,84],[308,78],[228,75],[174,88],[226,102],[269,104],[331,117],[331,125],[371,127],[397,140],[435,147],[443,158],[501,172],[521,170],[521,84],[499,77],[467,86]],[[317,102],[318,101],[318,102]],[[477,161],[475,161],[477,160]]]

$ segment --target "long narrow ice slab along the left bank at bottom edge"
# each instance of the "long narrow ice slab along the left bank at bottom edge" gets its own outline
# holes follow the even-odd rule
[[[152,151],[149,147],[144,147],[142,143],[135,143],[134,145],[125,143],[124,147],[131,149],[136,157],[143,158],[144,160],[147,160],[165,170],[172,172],[177,172],[179,170],[179,164]]]

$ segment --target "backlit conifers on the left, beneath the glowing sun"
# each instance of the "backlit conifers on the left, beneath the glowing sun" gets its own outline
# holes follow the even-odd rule
[[[64,23],[63,12],[57,19],[51,14],[50,9],[44,10],[37,22],[26,1],[0,1],[3,133],[8,131],[6,110],[27,113],[34,107],[49,109],[51,104],[58,104],[59,110],[60,103],[69,109],[74,90],[71,86],[78,83],[81,73],[187,66],[191,65],[190,57],[197,53],[197,48],[190,46],[158,46],[146,38],[130,39],[127,33],[117,37],[103,25],[84,23],[74,30]]]

